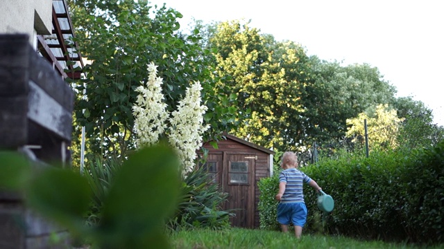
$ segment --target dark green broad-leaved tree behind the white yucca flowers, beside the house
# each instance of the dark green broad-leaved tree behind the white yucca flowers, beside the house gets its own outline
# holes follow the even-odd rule
[[[80,52],[92,61],[85,66],[85,80],[78,91],[86,90],[85,100],[76,104],[76,116],[94,141],[96,152],[125,154],[133,147],[135,89],[146,82],[146,65],[158,65],[168,111],[193,81],[203,86],[208,102],[205,122],[212,130],[207,138],[235,125],[237,104],[228,98],[220,79],[212,77],[214,57],[198,44],[199,31],[178,32],[180,12],[139,0],[69,0]],[[86,88],[84,88],[84,84]],[[84,111],[84,113],[83,113]]]

